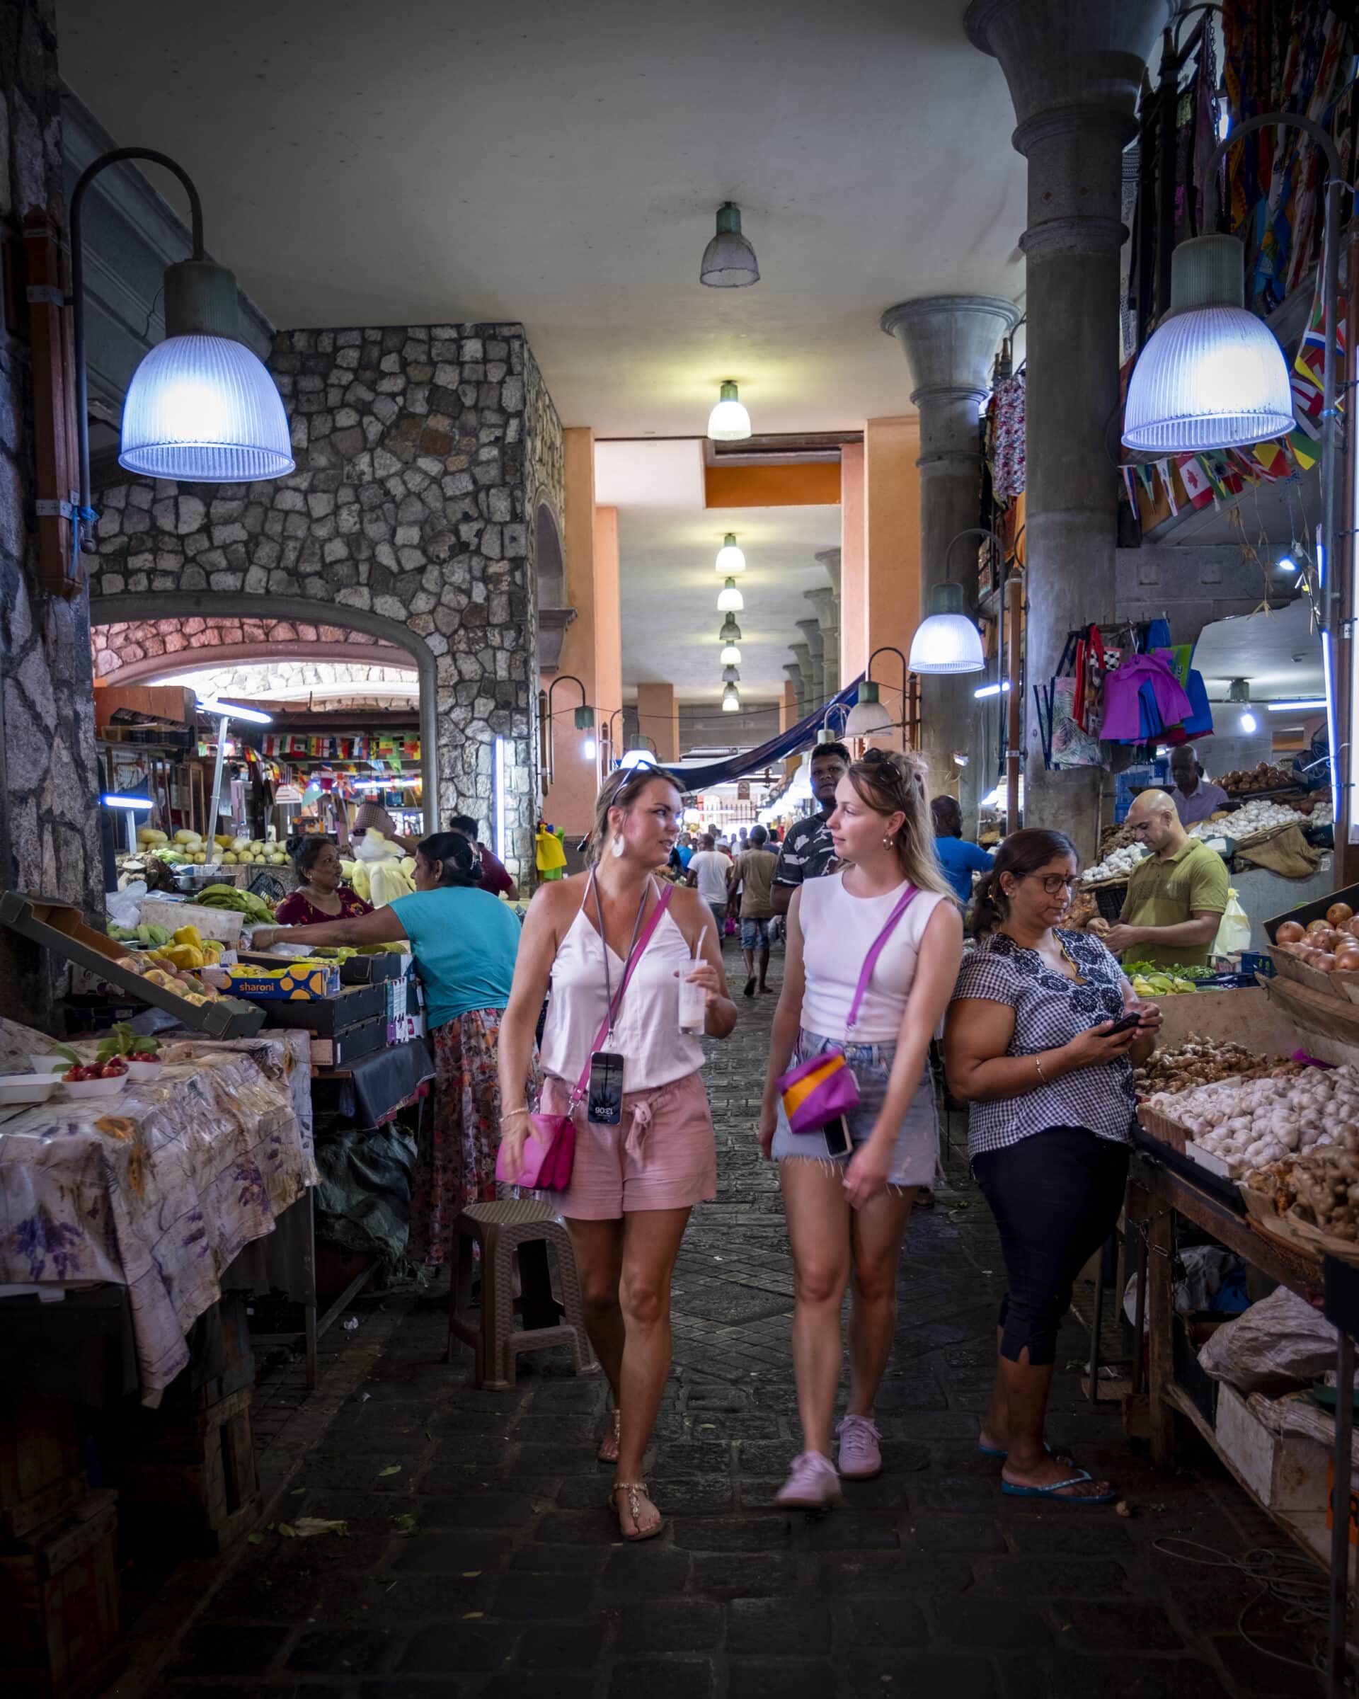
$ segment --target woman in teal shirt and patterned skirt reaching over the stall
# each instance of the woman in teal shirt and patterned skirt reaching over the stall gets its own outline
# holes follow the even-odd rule
[[[448,1257],[459,1211],[496,1196],[496,1048],[520,921],[476,877],[476,848],[459,833],[435,833],[416,848],[413,895],[350,921],[262,926],[253,936],[257,950],[279,938],[304,945],[409,943],[425,980],[435,1053],[433,1130],[428,1143],[421,1138],[416,1159],[411,1254],[431,1264]]]

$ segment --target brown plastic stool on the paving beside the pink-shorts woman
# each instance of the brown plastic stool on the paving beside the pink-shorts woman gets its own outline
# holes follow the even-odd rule
[[[472,1320],[472,1245],[481,1247],[481,1317]],[[547,1247],[557,1252],[562,1303],[552,1296]],[[515,1252],[520,1254],[523,1327],[515,1327]],[[584,1330],[581,1279],[571,1235],[547,1203],[472,1203],[454,1222],[454,1278],[448,1290],[448,1361],[454,1341],[476,1347],[476,1385],[515,1385],[520,1351],[571,1346],[578,1374],[593,1374]]]

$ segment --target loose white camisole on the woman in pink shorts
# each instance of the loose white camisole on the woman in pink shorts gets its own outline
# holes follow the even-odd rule
[[[593,909],[593,899],[586,899]],[[605,943],[586,919],[576,914],[552,963],[552,994],[542,1031],[542,1065],[574,1087],[608,1009],[605,996]],[[680,1031],[680,980],[686,972],[690,946],[669,909],[661,916],[646,955],[635,962],[613,1038],[605,1050],[623,1060],[623,1091],[652,1091],[695,1074],[703,1065],[703,1047],[691,1033]],[[623,977],[623,960],[608,951],[613,994]]]

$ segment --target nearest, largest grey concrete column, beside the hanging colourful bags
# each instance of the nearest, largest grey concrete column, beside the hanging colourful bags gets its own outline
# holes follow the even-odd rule
[[[1114,612],[1118,474],[1106,443],[1118,408],[1123,148],[1165,15],[1165,0],[972,0],[965,17],[973,46],[1001,61],[1014,148],[1029,163],[1029,690],[1052,678],[1070,629]],[[1101,780],[1099,768],[1045,771],[1026,714],[1028,826],[1060,826],[1091,858]]]

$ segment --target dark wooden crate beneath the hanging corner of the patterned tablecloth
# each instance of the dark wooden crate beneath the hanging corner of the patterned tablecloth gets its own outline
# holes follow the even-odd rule
[[[161,1544],[223,1551],[258,1521],[250,1395],[243,1386],[206,1407],[138,1412],[124,1436],[122,1499],[129,1517],[155,1517]]]

